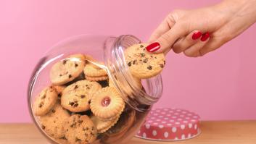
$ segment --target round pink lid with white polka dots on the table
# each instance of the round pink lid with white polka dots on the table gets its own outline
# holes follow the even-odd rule
[[[201,132],[200,117],[184,109],[161,108],[150,111],[136,137],[147,140],[186,140]]]

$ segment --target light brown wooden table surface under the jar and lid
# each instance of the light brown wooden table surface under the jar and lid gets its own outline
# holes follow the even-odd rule
[[[128,144],[256,144],[256,121],[202,122],[202,134],[191,140],[157,142],[134,137]],[[33,124],[0,124],[0,144],[45,144]]]

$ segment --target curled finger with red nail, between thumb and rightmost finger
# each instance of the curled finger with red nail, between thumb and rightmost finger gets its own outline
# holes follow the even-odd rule
[[[189,33],[189,35],[186,35],[186,38],[182,38],[174,43],[173,51],[180,54],[182,51],[185,51],[187,48],[200,41],[201,36],[202,33],[199,30],[194,30],[193,32]]]

